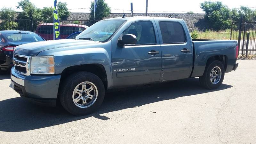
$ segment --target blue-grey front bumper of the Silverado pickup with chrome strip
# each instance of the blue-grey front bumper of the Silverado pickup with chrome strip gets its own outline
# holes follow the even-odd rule
[[[21,97],[45,106],[56,106],[60,75],[24,76],[11,69],[14,90]]]

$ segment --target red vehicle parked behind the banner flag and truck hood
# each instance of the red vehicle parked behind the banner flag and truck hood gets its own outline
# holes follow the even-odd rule
[[[65,39],[74,32],[84,31],[86,28],[88,26],[80,24],[60,24],[60,38]],[[53,40],[53,24],[39,24],[35,33],[42,36],[45,40]]]

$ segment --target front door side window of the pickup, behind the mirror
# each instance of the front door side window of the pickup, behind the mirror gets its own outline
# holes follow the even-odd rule
[[[138,21],[124,30],[123,35],[132,34],[137,37],[137,44],[156,44],[156,35],[151,21]]]

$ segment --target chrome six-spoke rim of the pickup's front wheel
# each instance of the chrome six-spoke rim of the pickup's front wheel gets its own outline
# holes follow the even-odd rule
[[[73,91],[73,102],[79,108],[92,106],[98,97],[98,90],[92,82],[82,82]]]

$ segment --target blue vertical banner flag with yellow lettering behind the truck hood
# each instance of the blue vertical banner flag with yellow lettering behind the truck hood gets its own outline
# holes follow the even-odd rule
[[[53,40],[60,39],[60,20],[57,12],[57,0],[53,4]]]

